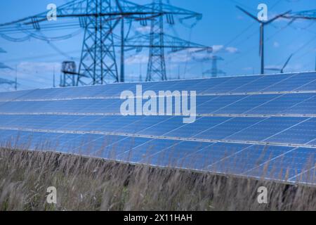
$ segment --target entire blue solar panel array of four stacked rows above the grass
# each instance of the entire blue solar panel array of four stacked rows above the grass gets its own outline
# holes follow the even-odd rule
[[[197,119],[123,116],[131,84],[0,94],[1,146],[316,184],[316,73],[142,83],[197,91]]]

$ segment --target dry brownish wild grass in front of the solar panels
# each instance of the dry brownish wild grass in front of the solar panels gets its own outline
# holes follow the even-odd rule
[[[57,205],[46,203],[48,186]],[[316,210],[316,188],[1,149],[0,210]]]

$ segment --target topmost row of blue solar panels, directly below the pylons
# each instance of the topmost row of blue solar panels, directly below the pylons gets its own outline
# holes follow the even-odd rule
[[[63,89],[37,89],[18,91],[15,93],[1,93],[0,101],[15,99],[62,99],[62,98],[97,98],[119,97],[121,90],[136,91],[136,84],[112,84],[107,86],[84,86]],[[244,77],[223,77],[215,79],[192,79],[171,82],[141,83],[143,91],[152,90],[196,90],[202,94],[228,94],[252,92],[285,92],[285,91],[315,91],[315,73],[294,73],[289,75],[258,75]]]

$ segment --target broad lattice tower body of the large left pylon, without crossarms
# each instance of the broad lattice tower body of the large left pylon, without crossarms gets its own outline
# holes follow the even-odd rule
[[[111,13],[112,0],[87,0],[86,14]],[[105,84],[119,82],[112,30],[119,20],[111,18],[85,18],[85,34],[79,63],[78,84]],[[86,81],[85,81],[86,80]]]

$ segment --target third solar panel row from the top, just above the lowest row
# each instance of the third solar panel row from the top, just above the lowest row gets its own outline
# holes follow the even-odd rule
[[[0,129],[312,146],[316,117],[197,117],[195,123],[183,124],[181,117],[174,116],[1,115]]]

